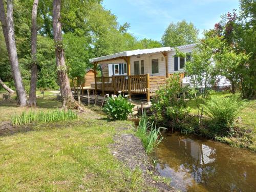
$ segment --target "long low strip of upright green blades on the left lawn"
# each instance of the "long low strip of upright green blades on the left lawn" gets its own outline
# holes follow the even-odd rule
[[[66,121],[69,119],[76,119],[77,114],[71,110],[52,110],[48,112],[23,112],[22,114],[15,114],[12,116],[13,125],[26,125],[29,123],[47,123],[55,121]]]

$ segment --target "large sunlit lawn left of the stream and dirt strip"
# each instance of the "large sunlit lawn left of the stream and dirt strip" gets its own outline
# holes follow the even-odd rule
[[[50,94],[39,98],[33,111],[47,112],[51,104],[59,108],[53,99]],[[0,100],[0,124],[17,111],[29,110]],[[82,114],[79,120],[34,124],[33,131],[0,137],[0,190],[156,191],[142,179],[140,169],[132,171],[109,151],[117,128],[131,122],[105,119],[95,113]]]

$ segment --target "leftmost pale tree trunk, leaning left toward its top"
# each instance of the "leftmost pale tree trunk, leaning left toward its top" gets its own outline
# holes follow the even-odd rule
[[[18,96],[20,106],[27,105],[27,96],[22,82],[22,75],[20,74],[18,67],[18,56],[14,37],[14,24],[13,24],[13,4],[12,0],[7,1],[7,17],[5,17],[5,8],[3,0],[0,0],[0,14],[3,32],[5,38],[7,37],[6,47],[11,63],[12,75],[14,78],[14,84],[16,93]]]

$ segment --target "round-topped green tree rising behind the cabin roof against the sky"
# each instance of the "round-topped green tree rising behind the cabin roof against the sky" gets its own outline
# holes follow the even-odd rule
[[[197,42],[198,33],[194,24],[187,23],[185,20],[177,24],[170,23],[162,36],[162,44],[170,47],[193,44]]]

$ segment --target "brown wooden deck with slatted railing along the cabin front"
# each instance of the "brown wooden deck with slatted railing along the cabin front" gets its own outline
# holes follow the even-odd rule
[[[172,74],[168,76],[172,76]],[[180,74],[180,82],[182,78],[184,78],[184,73]],[[95,89],[96,93],[97,91],[102,91],[103,95],[105,92],[117,94],[118,91],[129,95],[146,94],[149,102],[150,94],[165,84],[166,79],[165,76],[150,76],[149,74],[96,77],[96,83],[91,83],[91,87]]]

